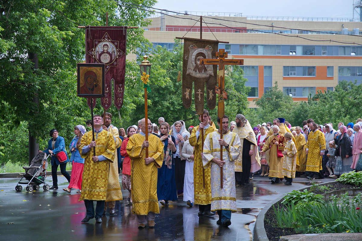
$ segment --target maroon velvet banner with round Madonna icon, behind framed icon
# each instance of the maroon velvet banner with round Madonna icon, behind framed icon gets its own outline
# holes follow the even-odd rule
[[[106,110],[112,105],[112,81],[114,105],[121,109],[123,104],[126,39],[124,26],[87,26],[85,29],[85,62],[105,64],[105,96],[101,98],[101,105]],[[90,99],[87,103],[90,107]]]

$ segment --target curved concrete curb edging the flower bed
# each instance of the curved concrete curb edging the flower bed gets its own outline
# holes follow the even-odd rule
[[[328,183],[332,183],[332,182],[336,182],[336,181],[323,182],[323,185],[328,184]],[[305,187],[301,188],[301,189],[299,189],[299,191],[302,191],[304,189],[306,189],[306,188]],[[269,238],[266,235],[266,231],[265,231],[265,228],[264,228],[265,214],[266,214],[266,212],[269,211],[269,208],[271,208],[271,206],[273,206],[275,203],[278,203],[280,200],[282,200],[285,197],[285,195],[286,195],[286,193],[283,194],[282,197],[279,197],[279,198],[275,199],[274,201],[268,203],[268,205],[266,205],[259,212],[258,216],[256,217],[256,221],[255,221],[254,232],[253,232],[253,241],[269,241]]]

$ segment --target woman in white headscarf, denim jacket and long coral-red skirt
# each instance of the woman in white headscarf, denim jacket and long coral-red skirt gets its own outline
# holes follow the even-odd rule
[[[78,145],[82,136],[86,132],[83,125],[74,126],[74,134],[72,141],[69,144],[69,149],[72,152],[70,162],[72,163],[72,175],[70,177],[70,182],[67,188],[63,188],[63,191],[70,193],[72,188],[79,189],[77,193],[81,192],[82,189],[82,176],[83,176],[83,167],[84,167],[84,158],[81,158]]]

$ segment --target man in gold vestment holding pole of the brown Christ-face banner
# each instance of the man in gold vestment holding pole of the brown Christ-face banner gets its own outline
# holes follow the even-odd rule
[[[189,142],[194,146],[194,197],[195,204],[199,205],[199,215],[212,216],[211,212],[211,184],[210,184],[210,168],[204,169],[202,164],[202,143],[205,141],[206,135],[216,131],[215,128],[209,125],[209,111],[203,110],[203,122],[192,129]],[[199,117],[201,121],[201,118]],[[204,132],[203,139],[201,132]],[[203,175],[204,174],[204,175]],[[205,177],[205,178],[203,178]],[[205,188],[204,188],[205,181]]]

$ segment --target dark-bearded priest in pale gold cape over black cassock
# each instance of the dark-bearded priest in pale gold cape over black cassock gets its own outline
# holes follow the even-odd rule
[[[232,130],[240,138],[240,155],[235,160],[235,178],[239,185],[249,184],[250,172],[258,171],[260,166],[259,153],[255,133],[244,115],[235,117],[236,127]]]

